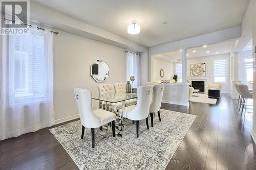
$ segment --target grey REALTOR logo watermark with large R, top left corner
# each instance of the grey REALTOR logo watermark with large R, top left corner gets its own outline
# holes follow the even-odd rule
[[[28,34],[29,1],[0,1],[1,35]]]

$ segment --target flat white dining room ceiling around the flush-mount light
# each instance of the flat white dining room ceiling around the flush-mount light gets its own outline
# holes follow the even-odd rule
[[[249,0],[32,1],[148,47],[239,26],[249,3]],[[127,33],[132,20],[141,26],[140,34]],[[163,25],[164,21],[167,24]]]

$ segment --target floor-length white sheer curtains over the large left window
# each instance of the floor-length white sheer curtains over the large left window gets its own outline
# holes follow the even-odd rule
[[[0,140],[52,126],[53,34],[0,38]]]

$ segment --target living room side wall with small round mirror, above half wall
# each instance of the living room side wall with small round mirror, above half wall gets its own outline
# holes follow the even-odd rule
[[[163,69],[164,75],[163,78],[160,77],[160,69]],[[164,61],[161,59],[154,58],[154,73],[153,81],[157,80],[172,80],[174,75],[174,63]]]

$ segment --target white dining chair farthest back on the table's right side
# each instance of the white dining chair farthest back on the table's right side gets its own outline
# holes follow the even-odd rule
[[[160,108],[163,98],[163,90],[164,90],[164,84],[156,84],[153,86],[153,100],[150,105],[150,116],[151,116],[151,127],[153,127],[153,114],[155,112],[158,113],[159,121],[161,122],[160,117]]]

